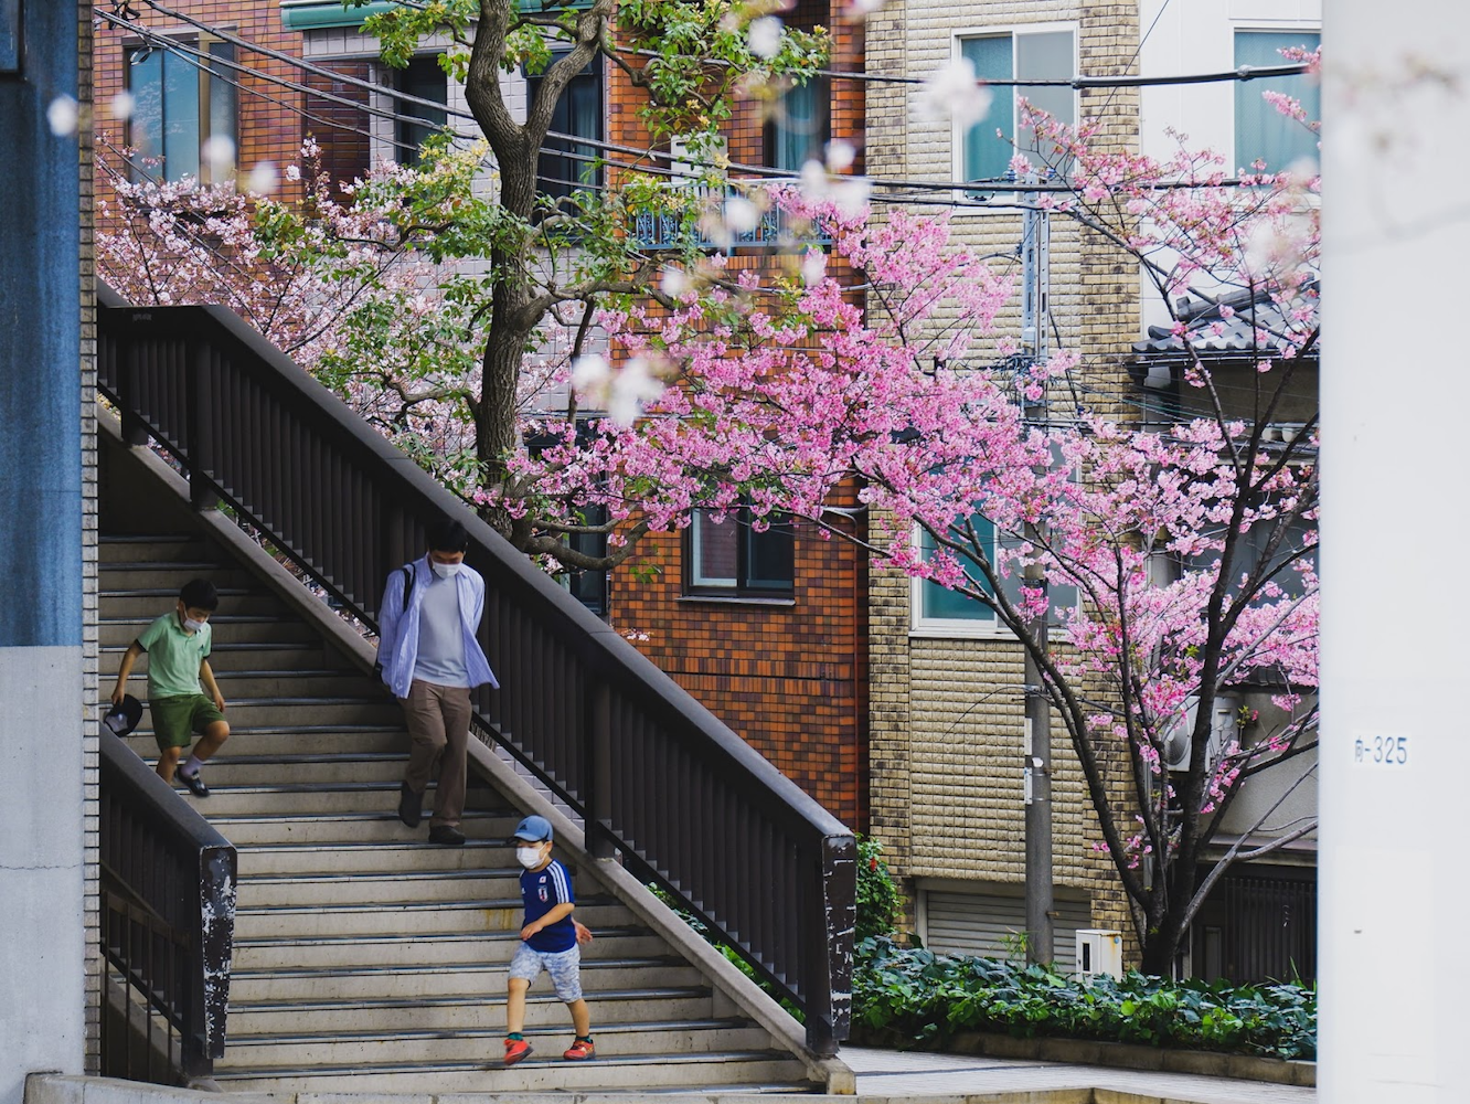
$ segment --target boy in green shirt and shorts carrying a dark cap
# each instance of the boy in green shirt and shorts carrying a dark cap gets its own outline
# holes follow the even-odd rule
[[[178,604],[146,628],[128,645],[118,667],[112,703],[122,701],[128,675],[138,656],[148,653],[148,711],[159,744],[159,778],[172,785],[173,772],[194,797],[209,797],[198,769],[229,736],[225,697],[209,669],[209,614],[219,609],[219,594],[209,579],[190,579]],[[203,682],[203,687],[200,685]],[[207,691],[207,694],[206,694]],[[179,756],[197,732],[198,742],[184,764]]]

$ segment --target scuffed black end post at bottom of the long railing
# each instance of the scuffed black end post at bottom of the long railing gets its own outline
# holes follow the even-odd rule
[[[857,841],[825,836],[816,861],[819,883],[807,897],[807,1047],[832,1057],[853,1026],[853,931],[857,926]]]

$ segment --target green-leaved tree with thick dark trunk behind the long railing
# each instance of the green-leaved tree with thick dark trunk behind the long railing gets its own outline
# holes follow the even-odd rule
[[[751,25],[763,15],[763,4],[729,0],[594,0],[588,7],[551,0],[440,0],[373,15],[365,24],[391,65],[406,65],[431,35],[454,43],[441,63],[465,81],[466,101],[494,154],[495,196],[476,204],[475,232],[440,235],[435,248],[440,260],[488,262],[470,312],[484,341],[479,394],[472,406],[475,448],[482,484],[494,491],[482,498],[487,516],[517,548],[573,567],[607,567],[632,547],[628,540],[617,541],[604,557],[575,551],[564,542],[566,534],[610,528],[585,525],[582,503],[548,497],[544,488],[512,476],[516,460],[525,457],[517,398],[528,351],[547,344],[548,326],[562,325],[572,332],[569,354],[575,359],[585,348],[595,309],[609,295],[663,297],[662,269],[670,257],[645,251],[628,232],[639,212],[676,204],[673,197],[660,196],[657,169],[667,157],[660,160],[654,150],[679,140],[682,157],[707,165],[701,175],[717,182],[711,171],[717,168],[719,134],[731,119],[736,91],[772,94],[779,81],[806,79],[826,59],[820,34],[786,31],[775,43],[760,43]],[[653,146],[629,154],[634,171],[620,173],[619,187],[579,188],[550,201],[538,188],[538,154],[547,147],[562,94],[598,56],[645,96],[639,116]],[[500,81],[501,71],[520,68],[539,74],[525,122],[516,121]],[[463,223],[463,216],[457,222]],[[692,263],[691,250],[692,238],[685,250]]]

